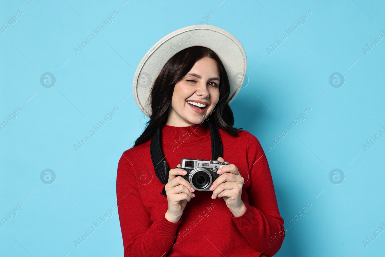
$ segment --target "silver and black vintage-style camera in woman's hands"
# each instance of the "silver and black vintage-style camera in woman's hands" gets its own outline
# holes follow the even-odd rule
[[[187,174],[179,176],[189,181],[195,190],[213,191],[209,190],[209,187],[220,176],[216,173],[217,170],[228,164],[228,161],[219,162],[216,160],[205,161],[202,159],[182,159],[181,168],[187,171]]]

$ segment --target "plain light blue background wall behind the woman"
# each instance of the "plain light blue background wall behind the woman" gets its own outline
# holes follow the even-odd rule
[[[2,1],[0,25],[23,14],[0,35],[0,122],[23,110],[0,132],[0,218],[23,207],[0,228],[1,256],[123,255],[117,210],[78,248],[74,240],[116,202],[118,160],[147,121],[131,95],[141,58],[210,10],[208,24],[237,37],[247,54],[249,82],[231,108],[234,126],[254,134],[269,161],[288,228],[275,256],[383,254],[385,232],[367,248],[362,241],[385,228],[385,136],[363,148],[385,132],[385,39],[367,55],[363,47],[385,36],[385,3],[222,1]],[[74,47],[114,10],[113,23],[76,55]],[[306,10],[305,24],[269,55],[266,48]],[[45,72],[55,75],[54,87],[40,84]],[[345,77],[342,87],[329,84],[333,72]],[[76,151],[114,106],[113,119]],[[306,106],[306,119],[269,151]],[[57,176],[50,185],[40,180],[46,168]],[[329,180],[335,168],[345,174],[339,185]],[[306,203],[311,208],[290,227]]]

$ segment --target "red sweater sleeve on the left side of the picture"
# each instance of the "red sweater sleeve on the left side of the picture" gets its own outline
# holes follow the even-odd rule
[[[119,160],[116,176],[116,197],[124,256],[166,256],[175,240],[183,215],[177,223],[169,222],[164,215],[151,222],[132,167],[128,154],[124,152]]]

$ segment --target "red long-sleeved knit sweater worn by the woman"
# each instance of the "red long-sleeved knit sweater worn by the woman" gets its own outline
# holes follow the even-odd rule
[[[278,210],[268,161],[258,139],[248,131],[238,137],[219,129],[223,158],[244,177],[241,199],[246,212],[234,217],[223,198],[195,191],[177,223],[164,217],[167,197],[152,166],[150,141],[125,151],[119,160],[116,195],[124,256],[255,256],[276,254],[285,230]],[[169,169],[182,158],[211,160],[205,124],[164,125],[162,151]],[[262,252],[262,254],[261,254]]]

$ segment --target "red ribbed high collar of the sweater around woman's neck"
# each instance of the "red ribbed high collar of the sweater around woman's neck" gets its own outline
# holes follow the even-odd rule
[[[195,124],[187,127],[174,127],[163,125],[162,143],[184,144],[201,141],[210,136],[210,129],[206,123]]]

